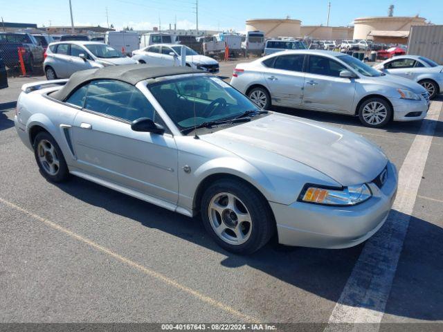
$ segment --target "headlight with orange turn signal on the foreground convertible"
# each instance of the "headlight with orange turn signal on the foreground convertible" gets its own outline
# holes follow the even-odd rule
[[[368,201],[372,192],[368,185],[353,185],[343,188],[329,188],[319,185],[305,185],[298,201],[322,205],[356,205]]]

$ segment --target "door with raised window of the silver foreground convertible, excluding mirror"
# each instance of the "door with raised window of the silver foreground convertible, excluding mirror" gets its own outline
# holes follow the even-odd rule
[[[170,133],[131,129],[138,118],[151,118],[165,127],[145,95],[125,82],[95,80],[88,84],[83,102],[72,127],[78,168],[154,199],[177,203],[174,138]]]

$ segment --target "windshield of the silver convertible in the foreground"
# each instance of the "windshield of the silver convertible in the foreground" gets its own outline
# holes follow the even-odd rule
[[[230,120],[260,111],[245,95],[215,76],[193,75],[147,84],[180,131],[206,122]]]

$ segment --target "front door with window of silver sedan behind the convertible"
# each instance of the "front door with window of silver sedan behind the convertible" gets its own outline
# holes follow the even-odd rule
[[[340,77],[348,70],[329,57],[309,55],[305,73],[302,106],[334,113],[353,113],[355,80]]]

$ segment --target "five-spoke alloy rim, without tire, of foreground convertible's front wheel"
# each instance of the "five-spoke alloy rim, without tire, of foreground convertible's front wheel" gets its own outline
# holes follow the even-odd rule
[[[234,194],[216,194],[209,203],[208,214],[211,227],[224,242],[239,246],[251,237],[251,214]]]

